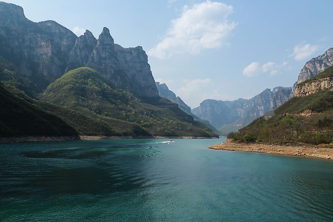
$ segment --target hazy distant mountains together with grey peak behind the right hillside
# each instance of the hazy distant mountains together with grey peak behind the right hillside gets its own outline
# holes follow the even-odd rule
[[[236,131],[264,113],[281,106],[294,96],[297,84],[316,76],[332,65],[333,48],[330,48],[323,55],[306,62],[292,88],[276,87],[272,91],[266,89],[249,100],[205,100],[192,112],[208,120],[222,134]]]

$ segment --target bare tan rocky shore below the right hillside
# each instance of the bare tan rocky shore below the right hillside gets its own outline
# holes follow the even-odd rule
[[[293,156],[308,156],[333,160],[333,149],[324,145],[277,145],[277,144],[259,144],[259,143],[237,143],[231,139],[226,139],[221,144],[208,147],[209,149],[271,153]]]

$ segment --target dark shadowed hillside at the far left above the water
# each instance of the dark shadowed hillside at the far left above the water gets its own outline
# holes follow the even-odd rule
[[[0,137],[73,136],[77,131],[59,117],[15,96],[0,83]]]

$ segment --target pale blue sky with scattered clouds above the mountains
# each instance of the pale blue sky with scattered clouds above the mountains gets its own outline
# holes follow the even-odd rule
[[[142,46],[155,81],[192,109],[205,99],[250,99],[291,87],[304,64],[333,47],[333,1],[5,0],[34,21]]]

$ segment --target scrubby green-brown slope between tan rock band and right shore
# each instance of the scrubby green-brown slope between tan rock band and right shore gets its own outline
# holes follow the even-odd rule
[[[312,110],[310,116],[302,116]],[[255,119],[240,129],[240,134],[230,137],[244,140],[249,133],[252,138],[266,142],[304,142],[311,144],[333,141],[333,92],[324,90],[304,97],[293,97],[279,108],[272,117]],[[314,129],[314,130],[313,130]],[[246,140],[246,139],[245,139]]]

